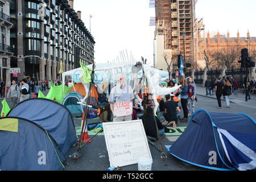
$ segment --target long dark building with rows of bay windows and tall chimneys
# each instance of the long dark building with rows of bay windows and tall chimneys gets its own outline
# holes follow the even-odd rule
[[[18,79],[36,76],[39,80],[59,78],[63,70],[79,68],[94,61],[94,38],[73,10],[73,0],[13,0],[10,15],[11,45],[15,47],[11,67],[21,69]]]

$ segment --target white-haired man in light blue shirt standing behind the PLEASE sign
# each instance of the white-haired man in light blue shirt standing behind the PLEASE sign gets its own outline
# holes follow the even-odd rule
[[[115,115],[115,111],[114,111],[115,103],[131,102],[131,107],[133,107],[133,99],[134,99],[133,89],[129,84],[127,84],[127,78],[125,74],[120,73],[117,76],[117,78],[118,78],[118,83],[114,88],[112,88],[109,95],[109,103],[110,103],[110,108],[114,114],[114,122],[131,121],[132,112],[129,115],[123,115],[119,117]],[[133,108],[131,108],[131,111],[133,111],[132,109]]]

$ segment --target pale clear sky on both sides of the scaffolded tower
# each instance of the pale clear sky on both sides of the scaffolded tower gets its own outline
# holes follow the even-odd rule
[[[231,37],[256,36],[255,0],[198,0],[196,17],[204,18],[206,32],[219,31]],[[155,26],[149,26],[155,9],[149,0],[74,0],[74,9],[82,11],[81,18],[94,37],[96,63],[107,63],[119,52],[132,52],[153,64]],[[93,16],[90,23],[90,14]]]

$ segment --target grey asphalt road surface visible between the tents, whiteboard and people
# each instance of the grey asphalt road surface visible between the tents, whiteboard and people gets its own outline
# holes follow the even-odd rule
[[[44,93],[45,95],[47,93]],[[205,88],[197,87],[197,98],[198,102],[196,102],[196,110],[205,109],[209,112],[215,113],[229,113],[229,114],[237,114],[237,113],[245,113],[250,115],[252,118],[256,120],[256,97],[251,96],[251,100],[245,102],[245,95],[240,93],[239,96],[231,96],[230,100],[232,101],[231,109],[222,107],[222,109],[218,109],[217,99],[215,96],[205,96]],[[7,99],[7,102],[10,100]],[[225,104],[224,104],[225,106]],[[2,105],[0,104],[0,110]],[[181,111],[181,117],[183,117]],[[74,119],[75,126],[81,126],[81,119]],[[88,119],[88,123],[97,122],[96,119]],[[179,123],[178,127],[187,127],[188,123]],[[182,134],[182,132],[181,132]],[[179,135],[181,135],[179,134]],[[200,168],[196,166],[192,166],[191,164],[184,163],[181,160],[172,156],[164,146],[170,146],[174,144],[174,142],[179,138],[179,135],[167,136],[163,139],[163,150],[167,155],[166,160],[162,160],[160,158],[161,154],[154,147],[149,145],[153,164],[153,171],[205,171],[208,169]],[[93,137],[93,134],[90,133],[90,138]],[[160,147],[159,142],[155,142],[156,146]],[[68,151],[68,156],[74,154],[77,151],[77,146],[72,147]],[[73,160],[72,158],[68,158],[68,166],[65,171],[106,171],[107,168],[110,167],[108,150],[106,148],[105,137],[104,134],[97,135],[93,138],[92,142],[86,144],[84,148],[82,148],[82,155],[79,159]],[[137,164],[131,166],[122,167],[122,171],[137,171]]]

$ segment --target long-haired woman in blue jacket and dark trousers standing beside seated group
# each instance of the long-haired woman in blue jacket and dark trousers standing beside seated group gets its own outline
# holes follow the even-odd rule
[[[181,106],[184,114],[184,117],[183,119],[181,119],[181,122],[188,122],[188,84],[185,81],[184,76],[179,77],[179,85],[181,85],[179,93],[181,98]]]

